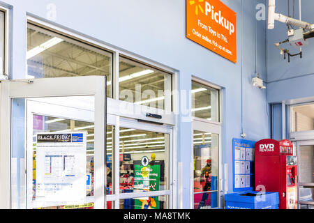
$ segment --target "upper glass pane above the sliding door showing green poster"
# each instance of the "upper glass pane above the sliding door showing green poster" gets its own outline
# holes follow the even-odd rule
[[[119,58],[119,100],[172,111],[172,75],[122,56]]]

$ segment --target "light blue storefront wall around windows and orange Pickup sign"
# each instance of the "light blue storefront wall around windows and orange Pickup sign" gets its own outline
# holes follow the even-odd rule
[[[26,70],[27,13],[45,19],[48,3],[54,3],[57,6],[57,24],[179,70],[179,89],[190,90],[192,75],[223,87],[221,149],[223,164],[228,164],[229,192],[232,191],[232,138],[241,137],[242,129],[248,135],[247,139],[269,137],[266,91],[251,84],[255,71],[266,79],[265,21],[255,20],[255,5],[264,3],[264,0],[223,1],[237,13],[237,64],[185,37],[186,6],[182,0],[5,2],[13,6],[14,79],[24,78]],[[183,162],[183,207],[190,208],[192,176],[187,173],[190,173],[192,130],[190,123],[185,121],[186,116],[180,115],[178,161]]]

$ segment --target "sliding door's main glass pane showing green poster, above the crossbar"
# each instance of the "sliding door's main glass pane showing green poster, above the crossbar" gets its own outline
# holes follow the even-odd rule
[[[120,128],[119,160],[120,193],[168,190],[169,134]]]

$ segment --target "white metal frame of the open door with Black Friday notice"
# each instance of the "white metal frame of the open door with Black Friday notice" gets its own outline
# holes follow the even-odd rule
[[[105,207],[106,77],[56,77],[2,81],[0,114],[0,208],[10,208],[11,101],[14,98],[95,96],[95,208]],[[27,139],[27,138],[26,138]]]

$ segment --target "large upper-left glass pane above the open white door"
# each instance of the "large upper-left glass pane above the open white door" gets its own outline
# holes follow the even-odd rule
[[[112,54],[33,24],[27,27],[27,78],[107,76],[112,97]]]

